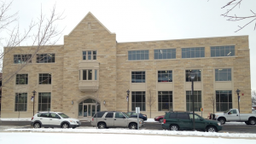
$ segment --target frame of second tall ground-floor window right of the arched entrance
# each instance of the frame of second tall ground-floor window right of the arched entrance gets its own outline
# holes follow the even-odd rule
[[[166,93],[166,94],[163,94]],[[163,102],[163,95],[167,95],[168,102]],[[160,101],[161,99],[161,101]],[[163,104],[168,103],[168,110],[163,110]],[[173,110],[173,93],[172,91],[158,91],[157,95],[157,104],[158,104],[158,112],[166,112],[166,111],[172,111]]]

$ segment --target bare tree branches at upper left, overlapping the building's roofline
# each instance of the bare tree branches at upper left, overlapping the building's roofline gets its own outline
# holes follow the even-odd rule
[[[4,66],[9,66],[9,64],[15,63],[16,69],[13,72],[5,73],[4,78],[2,78],[2,86],[8,84],[12,78],[15,78],[15,75],[20,72],[28,63],[31,63],[32,59],[37,55],[38,51],[41,49],[46,49],[50,45],[54,45],[59,38],[61,37],[61,32],[57,30],[56,23],[59,20],[62,20],[62,14],[55,14],[55,6],[51,10],[51,14],[47,17],[43,14],[41,9],[41,14],[38,17],[38,20],[35,20],[30,23],[27,30],[20,32],[19,26],[9,28],[10,24],[17,21],[16,14],[8,14],[9,9],[12,5],[11,3],[0,2],[0,32],[7,32],[9,37],[0,37],[0,40],[5,39],[4,50],[0,52],[0,60],[3,61],[3,57],[8,55],[16,49],[22,49],[22,53],[26,55],[15,55],[13,59],[4,60],[0,64],[0,68]],[[35,29],[35,30],[34,30]],[[32,33],[35,31],[35,33]],[[20,44],[24,43],[26,40],[29,40],[32,44],[25,48],[17,48]],[[1,43],[1,45],[3,45]],[[14,61],[13,61],[14,60]]]

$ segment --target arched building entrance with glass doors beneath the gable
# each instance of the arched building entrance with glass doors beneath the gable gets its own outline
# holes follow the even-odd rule
[[[86,99],[79,103],[79,118],[91,118],[101,111],[101,105],[93,99]]]

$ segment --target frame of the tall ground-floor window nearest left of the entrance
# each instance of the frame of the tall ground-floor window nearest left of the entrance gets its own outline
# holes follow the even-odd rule
[[[44,103],[42,98],[43,98],[43,95],[47,95],[47,102]],[[41,102],[40,102],[41,101]],[[47,107],[47,110],[43,110],[43,105],[46,105]],[[51,108],[51,92],[39,92],[38,93],[38,111],[39,112],[49,112],[50,111],[50,108]]]

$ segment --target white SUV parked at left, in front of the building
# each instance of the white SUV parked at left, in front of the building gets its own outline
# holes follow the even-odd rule
[[[79,127],[81,122],[79,119],[69,118],[61,112],[38,112],[31,121],[34,128],[41,127],[57,127],[57,128],[73,128]]]

